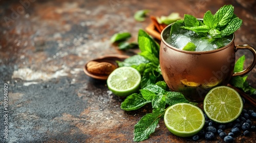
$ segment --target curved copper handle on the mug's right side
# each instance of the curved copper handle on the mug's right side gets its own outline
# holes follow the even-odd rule
[[[256,51],[252,46],[250,46],[248,44],[235,46],[235,51],[236,52],[238,50],[245,50],[245,49],[251,51],[251,53],[253,54],[253,61],[252,61],[251,65],[249,67],[247,67],[246,69],[244,69],[242,71],[233,73],[232,76],[244,76],[244,75],[248,74],[253,69],[253,67],[256,65]]]

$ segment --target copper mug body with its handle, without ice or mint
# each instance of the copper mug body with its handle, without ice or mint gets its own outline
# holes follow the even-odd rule
[[[227,85],[232,76],[246,75],[256,64],[254,48],[250,45],[235,46],[234,34],[232,41],[220,49],[191,52],[180,50],[165,41],[171,27],[172,24],[161,32],[160,68],[170,90],[181,92],[189,101],[203,101],[211,88]],[[238,50],[250,50],[253,61],[245,70],[233,73]]]

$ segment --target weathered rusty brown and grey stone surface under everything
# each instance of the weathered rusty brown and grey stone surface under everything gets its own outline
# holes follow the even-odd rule
[[[149,17],[135,21],[137,10],[201,18],[207,10],[216,12],[225,4],[232,4],[243,19],[235,43],[256,47],[255,1],[0,1],[0,142],[6,141],[4,83],[8,84],[9,142],[133,142],[134,125],[151,107],[123,111],[123,99],[112,94],[105,81],[85,75],[83,65],[103,55],[138,52],[119,51],[110,42],[118,32],[130,32],[130,41],[137,42],[138,30],[151,23]],[[243,54],[248,66],[252,54],[239,51],[237,57]],[[255,79],[254,67],[248,77],[254,88]],[[246,108],[255,110],[248,103]],[[255,139],[254,132],[237,137],[236,142]],[[160,120],[155,133],[143,142],[186,141],[171,134]]]

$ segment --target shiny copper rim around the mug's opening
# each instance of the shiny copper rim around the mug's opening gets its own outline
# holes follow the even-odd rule
[[[203,20],[202,18],[197,18],[198,20]],[[219,51],[222,51],[224,49],[227,49],[227,47],[229,47],[233,42],[234,42],[234,33],[232,33],[232,40],[225,46],[223,47],[220,47],[219,49],[216,49],[216,50],[211,50],[211,51],[185,51],[185,50],[181,50],[179,49],[178,47],[175,47],[173,45],[170,45],[169,43],[167,43],[165,41],[165,39],[163,38],[163,33],[164,31],[166,31],[169,27],[171,27],[172,25],[174,24],[173,23],[170,23],[168,26],[166,26],[162,32],[161,32],[161,41],[167,46],[169,47],[170,49],[173,49],[175,51],[178,51],[178,52],[182,52],[182,53],[186,53],[186,54],[195,54],[195,55],[201,55],[201,54],[210,54],[210,53],[216,53],[216,52],[219,52]]]

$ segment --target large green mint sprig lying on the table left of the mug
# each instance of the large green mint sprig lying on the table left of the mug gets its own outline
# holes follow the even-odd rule
[[[159,44],[143,30],[139,30],[138,44],[141,53],[118,62],[120,67],[132,66],[142,75],[140,92],[126,97],[121,103],[121,109],[132,111],[146,104],[151,104],[153,108],[152,113],[144,115],[134,126],[134,141],[145,140],[155,132],[159,120],[163,118],[166,105],[190,103],[183,94],[168,91],[160,70]]]

